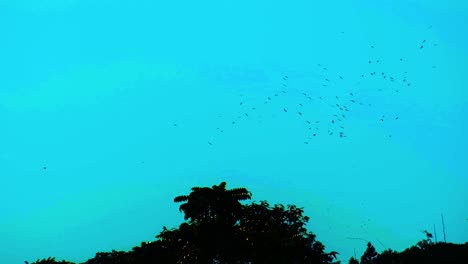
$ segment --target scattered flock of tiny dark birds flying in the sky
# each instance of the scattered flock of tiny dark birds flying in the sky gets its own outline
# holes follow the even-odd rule
[[[426,40],[422,40],[419,43],[419,47],[415,48],[422,50],[427,45]],[[436,46],[434,44],[433,46]],[[377,49],[378,47],[372,45],[370,49]],[[397,63],[404,63],[406,59],[404,58],[395,58]],[[393,114],[376,114],[376,109],[371,109],[373,104],[366,102],[366,99],[363,98],[364,89],[361,89],[360,85],[367,79],[371,79],[370,82],[374,82],[372,86],[378,86],[377,91],[383,91],[384,89],[387,92],[391,93],[400,93],[405,89],[411,88],[411,81],[408,78],[408,72],[403,71],[398,74],[390,74],[386,71],[382,71],[383,61],[379,58],[371,58],[368,61],[365,61],[369,65],[368,69],[371,69],[369,72],[363,72],[360,76],[349,76],[344,77],[340,74],[332,74],[329,69],[322,64],[317,64],[317,70],[319,71],[318,76],[321,77],[320,83],[315,84],[313,88],[299,88],[297,87],[291,89],[290,83],[294,78],[290,75],[284,74],[281,76],[280,82],[277,84],[277,88],[271,92],[271,94],[266,94],[263,98],[256,98],[254,101],[247,100],[244,98],[244,95],[241,94],[238,101],[238,111],[237,116],[233,117],[231,120],[224,120],[224,126],[216,127],[218,136],[224,133],[226,129],[239,126],[245,119],[252,120],[255,117],[261,118],[260,112],[271,111],[276,109],[274,114],[278,115],[282,113],[283,115],[296,115],[296,119],[300,120],[303,123],[305,128],[305,138],[303,140],[304,144],[309,144],[314,140],[314,138],[320,136],[334,136],[338,138],[348,137],[346,133],[346,127],[348,120],[352,116],[353,111],[367,111],[369,113],[375,114],[375,123],[388,123],[388,122],[398,122],[400,119],[399,115],[396,113]],[[375,66],[374,66],[375,65]],[[403,67],[400,67],[403,68]],[[349,81],[352,81],[354,85],[351,85]],[[356,82],[357,81],[357,82]],[[375,84],[375,82],[378,84]],[[348,87],[346,92],[343,93],[342,87]],[[334,88],[339,87],[340,90]],[[350,87],[350,88],[349,88]],[[318,89],[333,91],[334,94],[330,92],[323,93]],[[284,97],[284,100],[280,98]],[[309,112],[313,110],[313,106],[321,103],[322,105],[328,106],[329,110],[327,112],[321,112],[319,115],[312,115]],[[273,106],[273,108],[271,107]],[[312,106],[312,107],[311,107]],[[314,112],[314,111],[312,111]],[[316,111],[315,111],[316,114]],[[259,120],[259,122],[261,122]],[[177,124],[174,124],[177,127]],[[391,133],[386,135],[388,138],[392,137]],[[215,137],[212,137],[211,140],[208,140],[207,143],[210,146],[216,144],[216,140],[213,140]]]

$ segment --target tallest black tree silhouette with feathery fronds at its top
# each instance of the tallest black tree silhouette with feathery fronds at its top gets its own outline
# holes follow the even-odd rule
[[[174,242],[170,237],[177,237],[178,246],[182,249],[182,256],[177,256],[179,259],[182,257],[197,263],[229,263],[239,244],[235,227],[242,213],[239,201],[250,198],[251,193],[245,188],[226,190],[226,182],[212,188],[193,187],[189,195],[174,199],[176,203],[185,202],[179,209],[189,223],[182,224],[179,230],[166,230],[159,238]]]

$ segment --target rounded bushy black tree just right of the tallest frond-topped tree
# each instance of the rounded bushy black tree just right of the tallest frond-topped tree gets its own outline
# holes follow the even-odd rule
[[[266,201],[245,206],[239,225],[242,252],[253,263],[330,263],[332,255],[306,230],[309,217],[302,213],[294,205],[270,208]]]

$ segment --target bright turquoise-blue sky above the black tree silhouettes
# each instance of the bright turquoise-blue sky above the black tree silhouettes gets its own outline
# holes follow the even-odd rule
[[[468,241],[466,20],[461,0],[1,1],[0,263],[129,251],[222,181],[304,207],[344,263],[441,240],[442,214]]]

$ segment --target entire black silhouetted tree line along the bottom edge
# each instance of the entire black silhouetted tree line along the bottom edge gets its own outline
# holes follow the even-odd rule
[[[338,252],[326,252],[315,234],[306,230],[309,217],[295,205],[270,206],[266,201],[241,204],[252,194],[245,188],[226,189],[226,183],[194,187],[177,196],[186,222],[179,228],[163,227],[156,240],[143,242],[129,252],[97,253],[83,264],[157,263],[310,263],[338,264]],[[55,258],[32,264],[73,264]],[[427,236],[403,252],[377,253],[368,243],[360,261],[353,264],[468,263],[468,243],[433,243]],[[26,264],[28,262],[26,261]]]

